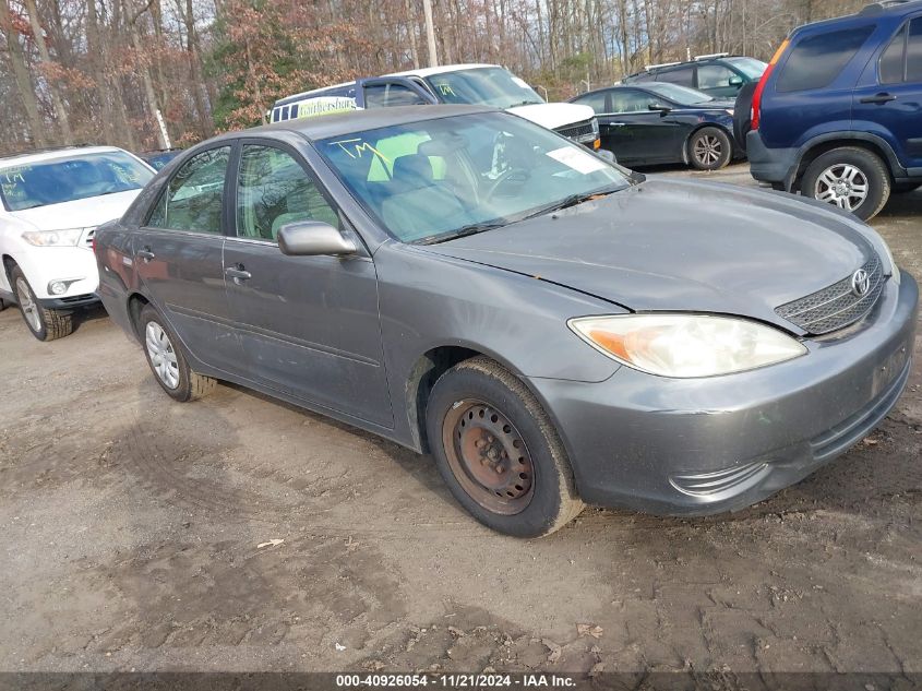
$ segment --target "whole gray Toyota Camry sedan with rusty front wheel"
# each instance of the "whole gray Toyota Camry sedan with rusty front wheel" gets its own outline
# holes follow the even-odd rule
[[[177,401],[236,382],[429,452],[523,537],[584,502],[706,514],[797,482],[896,404],[918,310],[825,204],[645,180],[459,106],[204,142],[96,254]]]

